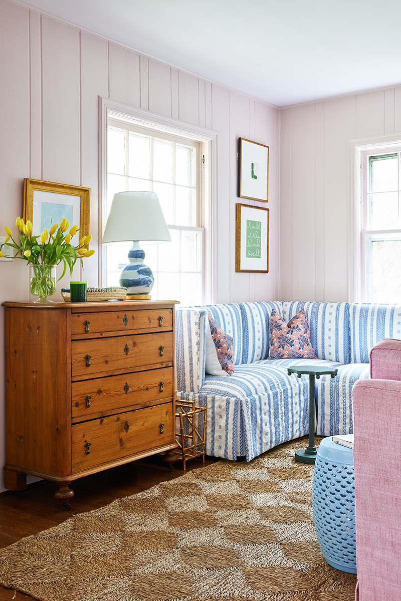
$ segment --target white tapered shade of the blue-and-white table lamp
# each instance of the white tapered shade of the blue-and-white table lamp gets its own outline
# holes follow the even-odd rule
[[[156,192],[117,192],[103,234],[102,244],[112,242],[171,242]]]

